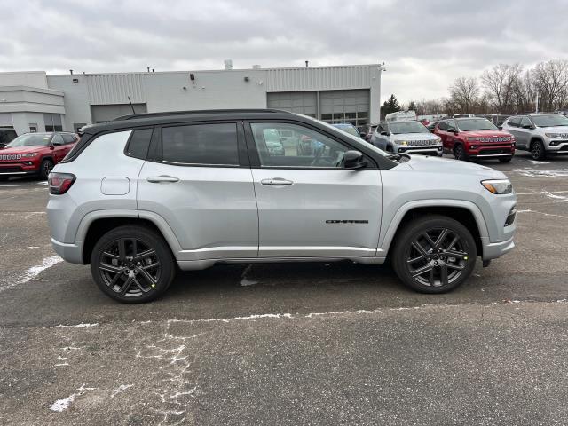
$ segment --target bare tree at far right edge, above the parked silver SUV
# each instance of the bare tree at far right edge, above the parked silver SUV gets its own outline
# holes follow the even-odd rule
[[[543,110],[562,107],[568,94],[568,60],[552,59],[540,62],[533,70],[534,84],[542,91]]]

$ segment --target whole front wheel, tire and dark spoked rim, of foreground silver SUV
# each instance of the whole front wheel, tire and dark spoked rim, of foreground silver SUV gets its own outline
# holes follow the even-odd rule
[[[438,242],[439,238],[442,240]],[[420,293],[439,294],[469,278],[476,265],[477,248],[460,222],[445,216],[425,216],[414,219],[398,234],[391,256],[392,267],[406,286]]]

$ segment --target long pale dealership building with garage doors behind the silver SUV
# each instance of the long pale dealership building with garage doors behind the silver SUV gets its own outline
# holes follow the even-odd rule
[[[0,126],[76,131],[136,113],[278,108],[325,122],[379,122],[381,67],[291,67],[47,75],[0,73]],[[129,100],[130,98],[130,100]]]

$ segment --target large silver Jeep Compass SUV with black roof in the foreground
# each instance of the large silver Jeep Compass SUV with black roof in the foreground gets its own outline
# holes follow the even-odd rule
[[[275,152],[275,134],[282,149]],[[299,144],[312,147],[298,150]],[[182,270],[221,263],[390,259],[442,293],[514,248],[501,172],[386,154],[278,110],[136,114],[84,129],[51,172],[53,247],[106,295],[146,302]]]

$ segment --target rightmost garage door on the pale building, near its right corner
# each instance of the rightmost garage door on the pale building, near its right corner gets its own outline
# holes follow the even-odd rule
[[[320,91],[319,106],[324,122],[351,122],[355,126],[369,120],[369,91]]]

